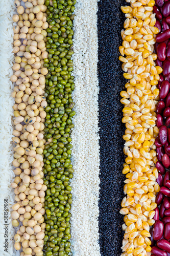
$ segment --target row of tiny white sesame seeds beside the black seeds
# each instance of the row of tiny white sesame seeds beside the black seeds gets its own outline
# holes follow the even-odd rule
[[[75,256],[100,255],[99,246],[99,120],[97,0],[78,0],[74,20],[76,103],[72,132],[71,251]]]

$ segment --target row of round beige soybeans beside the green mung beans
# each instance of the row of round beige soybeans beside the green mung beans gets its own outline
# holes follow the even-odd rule
[[[43,184],[44,121],[47,105],[44,88],[48,70],[43,67],[45,47],[46,6],[44,0],[15,0],[17,14],[13,16],[15,63],[11,81],[15,83],[12,96],[15,98],[13,142],[14,174],[11,186],[15,189],[12,224],[21,226],[15,234],[15,249],[23,255],[43,255],[45,231],[45,190]]]

